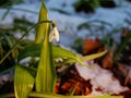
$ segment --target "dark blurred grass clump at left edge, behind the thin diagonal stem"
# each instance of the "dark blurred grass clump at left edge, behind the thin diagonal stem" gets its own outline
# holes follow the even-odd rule
[[[12,34],[0,33],[0,60],[2,60],[7,52],[11,50],[11,48],[16,41],[17,38],[15,38]],[[21,44],[16,46],[16,48],[10,53],[10,56],[4,60],[4,62],[0,64],[0,72],[14,65],[15,58],[17,57],[19,51],[23,47],[21,46]]]

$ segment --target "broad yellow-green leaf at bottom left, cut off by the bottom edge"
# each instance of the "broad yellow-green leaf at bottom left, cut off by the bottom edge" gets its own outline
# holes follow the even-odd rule
[[[14,91],[16,98],[27,98],[33,89],[35,78],[29,72],[34,72],[34,70],[27,69],[19,64],[15,65]]]

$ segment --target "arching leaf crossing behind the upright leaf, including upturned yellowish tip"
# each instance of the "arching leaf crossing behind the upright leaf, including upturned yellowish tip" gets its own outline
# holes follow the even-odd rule
[[[41,49],[41,44],[34,44],[29,47],[26,47],[20,53],[19,61],[21,61],[22,59],[27,58],[27,57],[39,57],[40,49]],[[87,60],[93,60],[93,59],[99,58],[99,57],[104,56],[106,52],[107,52],[107,50],[95,53],[95,54],[79,57],[78,54],[75,54],[67,49],[63,49],[58,46],[52,46],[53,59],[56,59],[56,58],[67,59],[66,61],[63,61],[63,63],[79,62],[80,64],[84,64],[82,61],[87,61]]]

